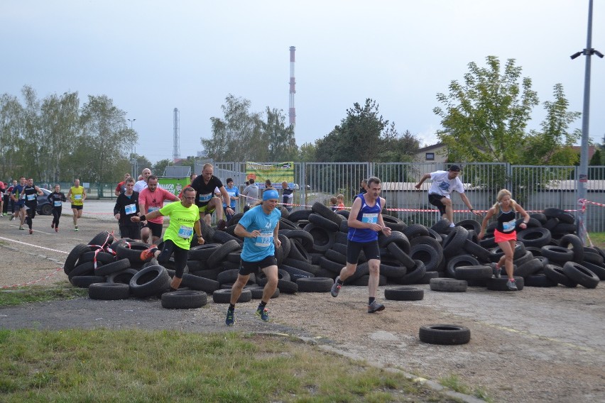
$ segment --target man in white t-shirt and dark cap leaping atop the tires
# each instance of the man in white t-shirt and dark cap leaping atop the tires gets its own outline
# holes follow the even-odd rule
[[[460,175],[460,167],[452,165],[447,171],[435,171],[423,175],[420,182],[416,184],[416,189],[420,189],[420,185],[425,180],[432,181],[429,189],[429,203],[439,209],[442,218],[447,219],[451,227],[454,226],[454,210],[452,209],[452,192],[454,190],[460,194],[460,198],[473,214],[481,216],[481,213],[473,209],[469,198],[464,194],[464,186],[458,175]]]

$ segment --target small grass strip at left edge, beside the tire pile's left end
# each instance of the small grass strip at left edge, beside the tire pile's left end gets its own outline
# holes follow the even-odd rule
[[[69,282],[59,282],[50,287],[41,285],[14,287],[0,289],[0,307],[27,304],[28,302],[46,302],[87,296],[88,289],[73,287]]]

